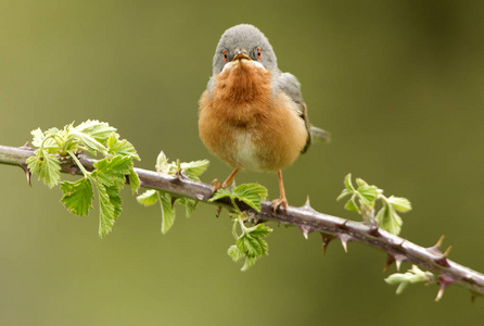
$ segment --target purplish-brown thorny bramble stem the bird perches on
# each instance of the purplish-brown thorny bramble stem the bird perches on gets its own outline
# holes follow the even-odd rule
[[[22,166],[26,172],[28,181],[30,174],[27,171],[25,160],[33,154],[34,150],[28,146],[22,148],[0,146],[0,163]],[[88,171],[93,170],[95,160],[82,154],[78,159]],[[80,173],[79,168],[72,162],[64,163],[62,171],[71,174]],[[193,181],[183,177],[183,175],[171,176],[142,168],[135,168],[135,171],[143,188],[162,190],[174,197],[188,197],[205,203],[222,205],[227,209],[232,208],[232,203],[227,198],[221,201],[208,202],[212,197],[212,186],[209,185]],[[477,294],[484,296],[484,275],[450,261],[446,253],[442,253],[441,241],[434,247],[423,248],[378,227],[319,213],[309,205],[309,201],[301,208],[289,206],[286,211],[281,209],[277,212],[273,212],[270,202],[266,201],[262,204],[262,211],[258,213],[257,220],[297,226],[306,238],[310,233],[320,233],[323,252],[333,239],[339,239],[345,251],[347,250],[347,243],[351,241],[375,247],[387,253],[385,268],[395,262],[398,269],[402,262],[410,262],[434,273],[438,277],[441,286],[437,298],[441,298],[445,288],[451,284],[469,289],[472,298]]]

